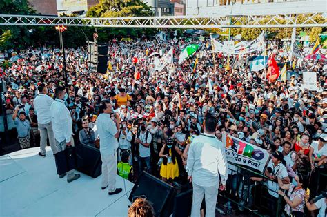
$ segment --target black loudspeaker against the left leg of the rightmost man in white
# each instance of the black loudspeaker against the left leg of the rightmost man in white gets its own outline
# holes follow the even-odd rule
[[[193,189],[177,194],[174,199],[172,217],[188,217],[192,209]]]

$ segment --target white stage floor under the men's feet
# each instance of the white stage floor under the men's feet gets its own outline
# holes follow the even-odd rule
[[[38,155],[39,147],[0,156],[0,216],[127,216],[133,183],[117,176],[120,194],[101,190],[101,176],[67,183],[57,175],[54,156]]]

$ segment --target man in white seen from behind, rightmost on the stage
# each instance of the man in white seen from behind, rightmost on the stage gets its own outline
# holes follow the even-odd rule
[[[206,116],[204,134],[196,136],[190,144],[186,172],[193,184],[192,217],[200,216],[201,202],[205,196],[206,217],[215,216],[219,189],[224,190],[228,177],[228,165],[223,143],[215,137],[217,119]],[[221,180],[219,180],[219,174]]]

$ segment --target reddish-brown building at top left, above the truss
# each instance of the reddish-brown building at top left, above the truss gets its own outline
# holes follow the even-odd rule
[[[28,3],[39,14],[57,16],[57,0],[28,0]]]

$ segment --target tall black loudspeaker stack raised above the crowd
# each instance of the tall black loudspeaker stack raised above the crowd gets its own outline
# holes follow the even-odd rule
[[[88,61],[93,72],[106,74],[108,68],[108,45],[88,44]]]

